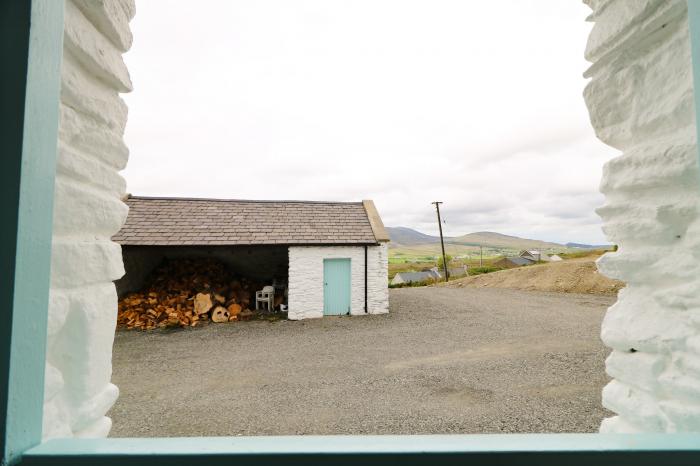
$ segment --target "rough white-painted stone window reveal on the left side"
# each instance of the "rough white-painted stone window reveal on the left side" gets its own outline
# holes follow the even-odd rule
[[[119,391],[110,383],[117,315],[113,280],[124,270],[110,241],[126,219],[119,175],[131,90],[132,0],[65,2],[44,438],[103,437]]]

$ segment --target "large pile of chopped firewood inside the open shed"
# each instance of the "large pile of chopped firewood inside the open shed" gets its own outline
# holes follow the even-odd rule
[[[260,288],[235,278],[214,259],[169,260],[151,274],[141,292],[119,301],[117,325],[151,330],[243,320],[253,314],[248,308]]]

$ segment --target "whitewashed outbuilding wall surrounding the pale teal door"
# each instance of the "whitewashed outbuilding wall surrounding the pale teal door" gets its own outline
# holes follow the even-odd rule
[[[365,314],[363,246],[289,248],[289,319],[323,317],[323,259],[350,259],[350,314]],[[389,312],[389,253],[386,243],[367,248],[367,311]]]

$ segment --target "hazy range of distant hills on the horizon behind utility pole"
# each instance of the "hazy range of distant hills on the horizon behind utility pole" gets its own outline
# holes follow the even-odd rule
[[[387,227],[387,231],[391,238],[392,247],[429,245],[440,241],[439,236],[426,235],[407,227]],[[557,243],[519,238],[492,231],[479,231],[457,237],[445,237],[445,243],[509,249],[561,249],[564,247]]]

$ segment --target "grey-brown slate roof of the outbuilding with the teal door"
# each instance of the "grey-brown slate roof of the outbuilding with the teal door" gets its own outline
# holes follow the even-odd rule
[[[130,196],[124,246],[377,244],[362,202]]]

